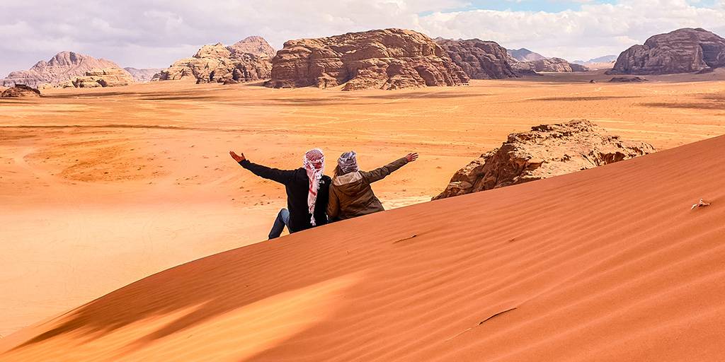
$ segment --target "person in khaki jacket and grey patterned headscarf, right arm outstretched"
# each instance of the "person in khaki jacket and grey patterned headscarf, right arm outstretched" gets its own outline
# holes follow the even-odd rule
[[[383,180],[408,162],[418,159],[418,153],[408,153],[384,167],[372,171],[360,171],[357,167],[357,153],[342,153],[337,160],[335,177],[330,185],[327,216],[331,222],[384,211],[370,184]]]

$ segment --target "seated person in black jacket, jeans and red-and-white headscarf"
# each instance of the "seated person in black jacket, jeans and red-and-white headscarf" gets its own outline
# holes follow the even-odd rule
[[[325,155],[319,148],[305,153],[299,169],[273,169],[253,164],[244,153],[229,151],[234,161],[253,174],[285,186],[287,209],[281,209],[270,230],[269,238],[279,237],[286,226],[290,233],[327,224],[327,203],[331,178],[324,175]]]

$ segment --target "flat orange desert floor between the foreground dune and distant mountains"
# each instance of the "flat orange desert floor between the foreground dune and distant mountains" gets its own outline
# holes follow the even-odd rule
[[[375,185],[396,208],[429,200],[457,169],[532,125],[589,119],[658,150],[725,134],[721,73],[609,78],[360,92],[167,82],[2,99],[0,334],[265,240],[283,188],[241,169],[230,150],[296,168],[320,147],[328,173],[350,149],[363,168],[418,151],[419,161]]]

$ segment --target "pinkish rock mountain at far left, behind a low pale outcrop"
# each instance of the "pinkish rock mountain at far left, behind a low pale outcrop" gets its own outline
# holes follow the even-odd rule
[[[10,87],[15,84],[25,84],[38,88],[43,84],[58,85],[74,77],[83,76],[94,69],[119,68],[114,62],[106,59],[96,59],[93,56],[62,51],[52,57],[48,62],[40,61],[30,70],[11,72],[0,81],[0,85]]]

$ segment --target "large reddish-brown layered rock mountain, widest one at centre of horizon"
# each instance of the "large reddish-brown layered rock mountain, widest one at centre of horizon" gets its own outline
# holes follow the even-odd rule
[[[344,84],[343,90],[463,85],[468,75],[413,30],[385,29],[287,41],[272,59],[272,88]]]

